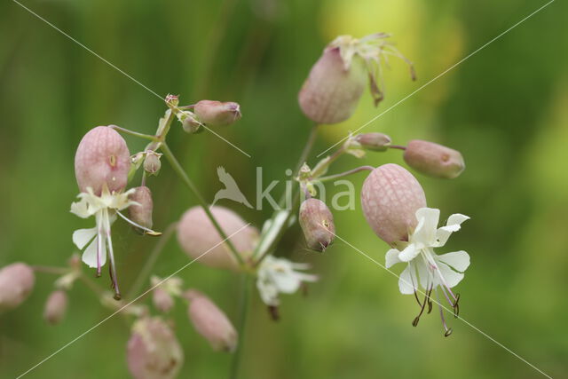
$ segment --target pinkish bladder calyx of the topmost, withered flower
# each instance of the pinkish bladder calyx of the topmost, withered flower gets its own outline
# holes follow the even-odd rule
[[[367,80],[363,59],[354,56],[346,68],[340,48],[327,47],[304,82],[298,102],[314,122],[343,122],[355,111]]]

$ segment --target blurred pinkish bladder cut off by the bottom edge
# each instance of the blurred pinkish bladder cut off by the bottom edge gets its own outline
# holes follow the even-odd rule
[[[161,318],[145,317],[132,326],[127,360],[130,375],[136,379],[170,379],[182,367],[184,352]]]

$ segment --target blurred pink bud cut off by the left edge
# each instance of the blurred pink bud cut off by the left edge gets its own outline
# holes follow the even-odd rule
[[[22,304],[34,288],[34,270],[26,264],[14,263],[0,269],[0,312]]]

